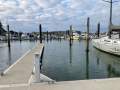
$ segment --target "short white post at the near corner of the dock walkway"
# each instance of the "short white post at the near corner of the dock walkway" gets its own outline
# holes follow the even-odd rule
[[[40,82],[40,54],[35,53],[35,81]]]

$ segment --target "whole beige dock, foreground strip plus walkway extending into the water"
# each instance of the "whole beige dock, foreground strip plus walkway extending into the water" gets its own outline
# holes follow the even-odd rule
[[[34,54],[42,54],[43,47],[43,44],[37,44],[5,70],[0,77],[0,90],[120,90],[120,78],[29,83],[34,67]]]

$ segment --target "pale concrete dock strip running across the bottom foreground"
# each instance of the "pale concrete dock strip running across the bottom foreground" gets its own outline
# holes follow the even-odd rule
[[[35,83],[31,85],[11,86],[0,90],[120,90],[120,79],[64,81],[55,84]]]

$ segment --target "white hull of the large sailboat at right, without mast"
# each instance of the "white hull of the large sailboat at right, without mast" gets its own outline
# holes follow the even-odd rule
[[[120,40],[108,39],[108,37],[93,39],[92,44],[99,50],[120,56]]]

